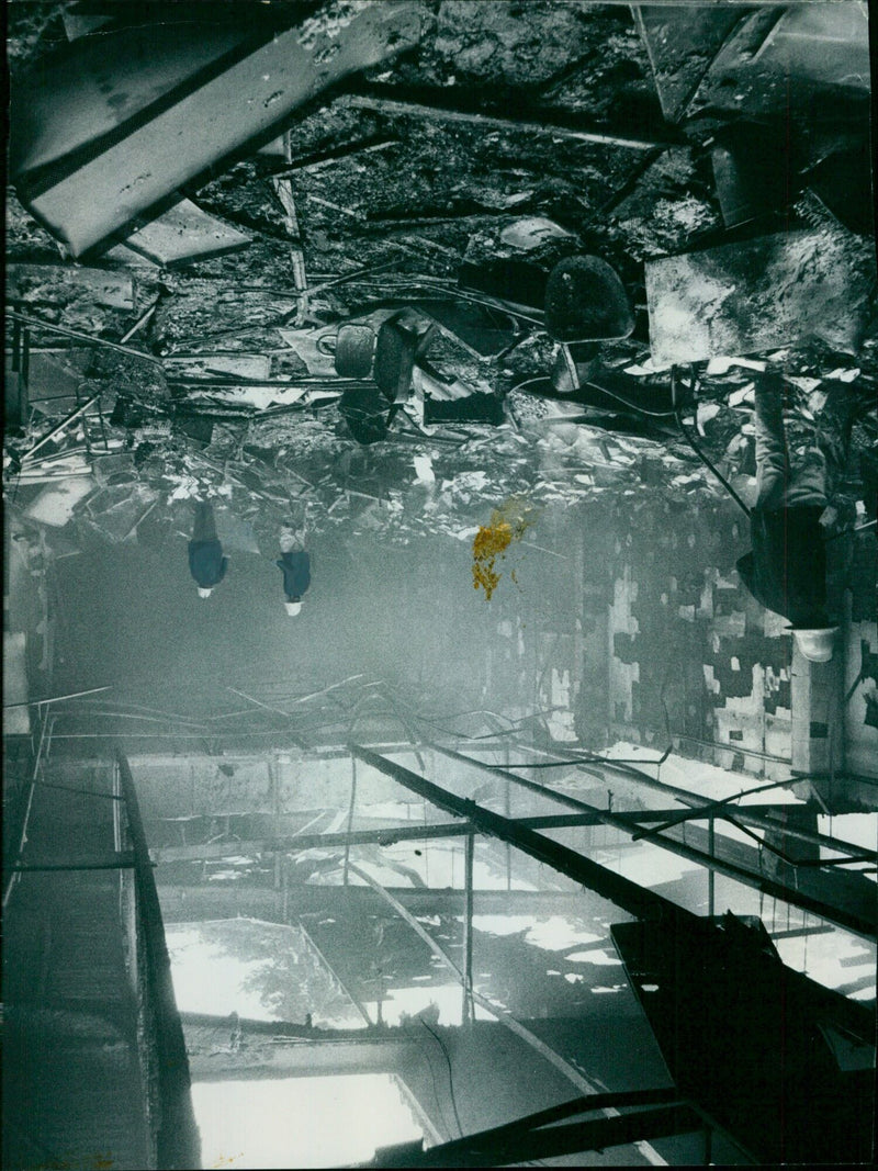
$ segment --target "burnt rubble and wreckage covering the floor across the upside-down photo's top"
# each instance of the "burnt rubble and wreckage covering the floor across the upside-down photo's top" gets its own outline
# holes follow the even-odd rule
[[[811,7],[686,28],[665,6],[268,5],[263,25],[253,6],[14,6],[7,295],[35,385],[7,471],[126,472],[129,523],[96,520],[119,492],[74,508],[110,540],[199,492],[262,518],[291,493],[317,529],[402,541],[468,540],[487,506],[572,505],[657,464],[678,493],[721,492],[693,474],[673,364],[701,363],[687,413],[733,474],[753,368],[723,359],[782,363],[805,420],[826,378],[873,385],[865,22]],[[274,71],[284,37],[307,83]],[[845,53],[815,70],[809,37]],[[248,77],[272,93],[229,102]],[[585,320],[594,275],[572,326],[546,301],[582,254],[622,279],[620,329]],[[97,396],[78,443],[34,448],[70,405],[43,379]]]

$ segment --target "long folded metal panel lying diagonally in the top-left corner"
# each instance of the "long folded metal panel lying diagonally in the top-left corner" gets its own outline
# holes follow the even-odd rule
[[[21,129],[12,171],[19,197],[80,256],[183,184],[276,131],[321,89],[413,47],[420,35],[419,8],[410,4],[355,9],[354,19],[348,12],[325,23],[315,18],[268,43],[247,47],[243,55],[241,46],[207,80],[204,70],[187,75],[183,84],[177,78],[169,85],[160,76],[156,101],[118,129],[109,112],[114,107],[100,88],[91,93],[74,71],[64,77],[70,93],[61,103],[53,78],[50,104],[40,119],[25,118],[16,105]],[[107,46],[104,53],[109,55]],[[188,62],[191,52],[184,59]],[[130,60],[125,69],[133,73]],[[71,138],[68,110],[78,103],[85,112]],[[109,119],[114,129],[108,133]],[[84,149],[75,149],[80,145]]]

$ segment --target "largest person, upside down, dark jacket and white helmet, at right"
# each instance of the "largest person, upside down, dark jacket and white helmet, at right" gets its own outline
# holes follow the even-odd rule
[[[805,658],[825,663],[832,657],[835,625],[826,598],[824,521],[828,504],[828,464],[836,471],[850,436],[846,388],[828,400],[818,441],[795,452],[790,461],[783,424],[783,381],[764,375],[756,382],[756,484],[759,495],[750,513],[753,550],[738,562],[738,571],[757,602],[788,618]],[[842,426],[832,440],[832,424]]]

